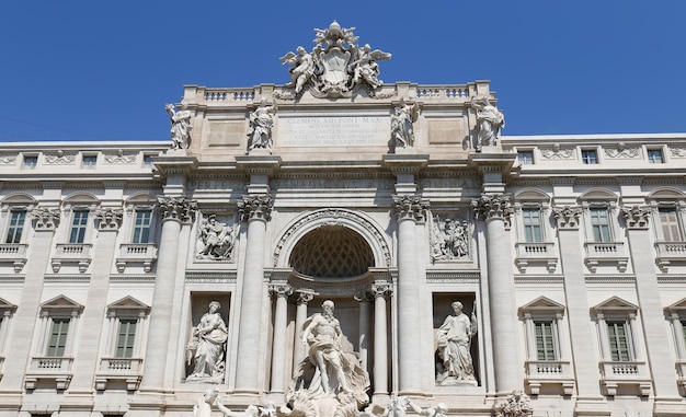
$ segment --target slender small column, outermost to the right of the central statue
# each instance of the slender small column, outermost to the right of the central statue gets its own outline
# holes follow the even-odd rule
[[[386,297],[391,293],[389,282],[375,282],[374,293],[374,395],[388,394],[388,317]]]

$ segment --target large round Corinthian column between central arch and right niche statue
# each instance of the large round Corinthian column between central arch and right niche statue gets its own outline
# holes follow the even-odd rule
[[[421,393],[421,311],[416,259],[416,221],[423,220],[428,202],[414,195],[393,196],[398,218],[398,389],[402,394]]]

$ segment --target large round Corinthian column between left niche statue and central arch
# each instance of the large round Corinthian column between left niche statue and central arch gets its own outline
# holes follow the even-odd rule
[[[268,195],[244,196],[238,201],[243,221],[248,221],[245,268],[238,323],[238,352],[236,363],[236,391],[260,392],[260,335],[262,328],[262,300],[264,299],[264,236],[266,222],[272,215],[273,199]]]

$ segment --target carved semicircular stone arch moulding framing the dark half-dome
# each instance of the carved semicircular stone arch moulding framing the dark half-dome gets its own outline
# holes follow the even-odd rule
[[[371,248],[374,266],[389,267],[391,254],[381,228],[366,216],[341,208],[328,208],[304,213],[294,219],[281,233],[272,257],[274,267],[288,267],[296,244],[307,233],[324,225],[339,225],[359,234]]]

